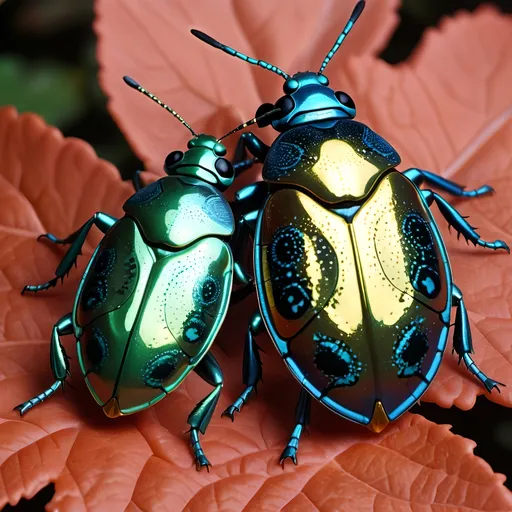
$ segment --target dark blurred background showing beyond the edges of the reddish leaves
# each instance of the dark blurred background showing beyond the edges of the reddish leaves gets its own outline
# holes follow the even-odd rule
[[[445,15],[474,10],[483,3],[512,13],[511,0],[403,0],[400,24],[381,57],[391,64],[407,59],[425,28],[437,25]],[[142,165],[110,118],[97,83],[92,4],[92,0],[0,0],[0,105],[37,112],[65,135],[88,141],[129,178]],[[475,453],[494,471],[506,474],[512,487],[509,409],[480,397],[471,411],[425,403],[413,412],[453,425],[454,433],[476,441]],[[32,500],[3,510],[42,511],[53,493],[52,484]]]

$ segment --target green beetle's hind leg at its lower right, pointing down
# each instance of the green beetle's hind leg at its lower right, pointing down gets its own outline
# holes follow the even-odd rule
[[[199,471],[203,466],[206,466],[207,470],[211,466],[210,461],[206,458],[201,448],[199,433],[204,435],[212,419],[213,411],[217,406],[222,390],[223,378],[219,363],[210,353],[201,359],[201,362],[194,371],[208,384],[215,386],[214,390],[194,407],[187,420],[187,423],[190,425],[190,443],[196,458],[196,469]]]

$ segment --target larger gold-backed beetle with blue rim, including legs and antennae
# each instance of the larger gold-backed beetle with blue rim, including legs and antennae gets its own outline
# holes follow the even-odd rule
[[[254,274],[260,312],[246,336],[240,397],[224,414],[234,418],[261,379],[254,337],[265,326],[286,365],[301,383],[296,426],[281,462],[296,453],[309,422],[313,396],[340,416],[380,432],[423,395],[446,347],[455,306],[453,349],[490,392],[498,382],[473,362],[468,314],[452,282],[448,255],[430,212],[435,202],[458,236],[489,249],[457,210],[422,183],[460,197],[465,190],[420,170],[398,172],[397,152],[380,135],[353,120],[350,96],[334,91],[323,71],[364,8],[358,2],[320,70],[288,75],[210,36],[202,41],[285,79],[285,95],[261,105],[258,122],[281,132],[269,147],[254,134],[240,138],[264,162],[263,181],[240,190],[234,245],[235,272],[254,239]],[[261,206],[263,205],[263,206]],[[501,384],[503,385],[503,384]]]

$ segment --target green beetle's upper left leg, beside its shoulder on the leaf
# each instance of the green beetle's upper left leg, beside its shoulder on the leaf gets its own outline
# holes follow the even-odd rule
[[[118,219],[108,215],[103,212],[96,212],[80,229],[72,233],[66,238],[57,238],[51,233],[46,233],[45,235],[41,235],[39,238],[47,238],[50,242],[55,244],[71,244],[71,247],[68,249],[68,252],[65,254],[62,261],[59,263],[57,270],[55,271],[55,277],[50,281],[31,285],[28,284],[25,286],[21,292],[23,295],[25,292],[39,292],[41,290],[48,290],[57,284],[57,281],[61,279],[64,281],[64,277],[69,274],[69,271],[76,265],[76,260],[80,254],[82,254],[82,246],[84,245],[85,239],[91,229],[91,227],[96,225],[103,233],[106,233],[116,222]]]

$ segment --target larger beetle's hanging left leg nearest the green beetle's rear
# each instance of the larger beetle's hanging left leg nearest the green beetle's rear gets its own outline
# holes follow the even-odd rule
[[[240,412],[243,405],[247,402],[250,394],[256,391],[256,386],[262,377],[262,364],[259,351],[261,350],[254,337],[260,334],[263,330],[263,320],[259,311],[254,313],[251,318],[247,335],[245,338],[244,347],[244,363],[242,370],[242,381],[245,389],[240,396],[230,405],[223,413],[222,416],[229,416],[231,421],[235,419],[235,412]]]

